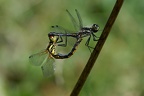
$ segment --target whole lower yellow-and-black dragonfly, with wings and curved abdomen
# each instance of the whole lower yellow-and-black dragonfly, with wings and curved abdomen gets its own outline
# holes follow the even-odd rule
[[[59,36],[49,35],[49,44],[46,49],[29,56],[29,61],[35,66],[41,66],[43,75],[50,77],[55,71],[55,59],[65,59],[68,55],[56,53],[56,45],[59,42]],[[81,42],[81,40],[77,41]],[[79,44],[79,43],[76,43]],[[75,46],[77,46],[75,44]],[[72,50],[75,50],[74,48]],[[72,54],[70,52],[69,54]]]

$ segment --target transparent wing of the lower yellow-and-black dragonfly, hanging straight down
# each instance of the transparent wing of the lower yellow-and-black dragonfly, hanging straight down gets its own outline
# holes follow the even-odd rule
[[[55,70],[54,62],[55,60],[52,57],[48,57],[43,63],[43,65],[41,66],[43,75],[45,77],[50,77],[54,74],[54,70]]]

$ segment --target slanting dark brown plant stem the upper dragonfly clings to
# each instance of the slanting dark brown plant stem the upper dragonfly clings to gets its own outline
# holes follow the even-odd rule
[[[80,77],[79,77],[79,79],[78,79],[78,81],[77,81],[77,83],[76,83],[76,85],[75,85],[75,87],[74,87],[74,89],[73,89],[70,96],[78,96],[79,92],[81,91],[81,89],[82,89],[82,87],[83,87],[83,85],[84,85],[84,83],[85,83],[85,81],[86,81],[93,65],[95,64],[96,59],[97,59],[97,57],[98,57],[98,55],[99,55],[99,53],[100,53],[100,51],[101,51],[101,49],[104,45],[109,33],[110,33],[112,25],[113,25],[117,15],[118,15],[119,11],[120,11],[120,8],[123,4],[123,1],[124,0],[117,0],[116,1],[115,6],[114,6],[114,8],[111,12],[111,15],[110,15],[110,17],[109,17],[109,19],[108,19],[108,21],[107,21],[107,23],[104,27],[104,30],[103,30],[103,32],[100,36],[100,39],[97,42],[97,44],[94,48],[94,51],[92,52],[86,66],[85,66],[82,74],[80,75]]]

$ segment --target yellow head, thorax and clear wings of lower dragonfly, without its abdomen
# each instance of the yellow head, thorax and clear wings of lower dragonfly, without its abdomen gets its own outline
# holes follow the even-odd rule
[[[55,54],[56,46],[53,41],[57,41],[56,39],[55,37],[50,38],[50,42],[45,50],[29,56],[30,63],[35,66],[41,66],[42,72],[46,77],[53,75],[55,70],[55,59],[49,52]]]

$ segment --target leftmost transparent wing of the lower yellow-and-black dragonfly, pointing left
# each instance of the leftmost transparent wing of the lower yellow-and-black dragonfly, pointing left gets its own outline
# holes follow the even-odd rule
[[[40,66],[44,62],[46,57],[47,57],[47,51],[43,50],[39,53],[29,56],[29,61],[31,64],[33,64],[35,66]]]

